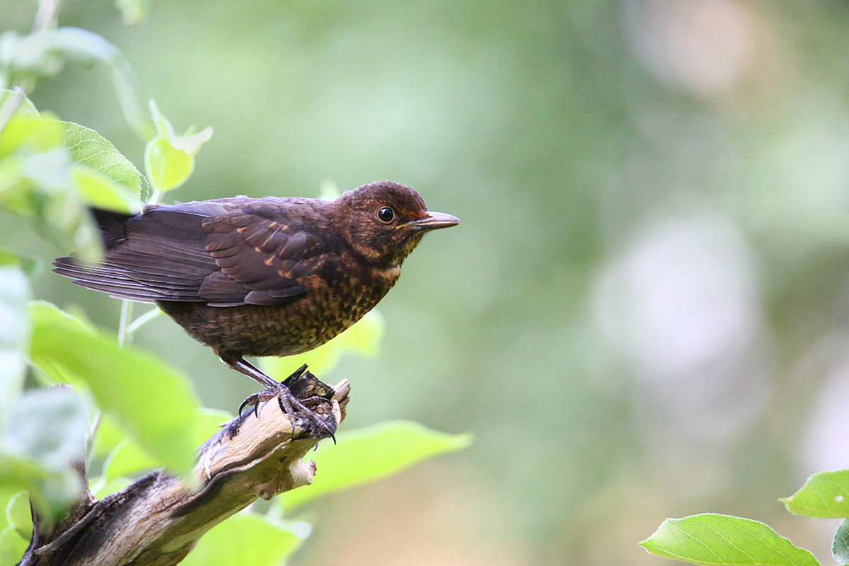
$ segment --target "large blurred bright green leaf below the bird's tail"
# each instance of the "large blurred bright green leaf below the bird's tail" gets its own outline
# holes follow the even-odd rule
[[[198,401],[188,379],[155,357],[44,302],[30,304],[30,360],[50,378],[85,383],[98,406],[177,473],[194,462]]]

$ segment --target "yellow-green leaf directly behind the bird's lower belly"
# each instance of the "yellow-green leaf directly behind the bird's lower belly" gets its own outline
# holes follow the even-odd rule
[[[262,358],[260,363],[266,373],[278,381],[283,381],[305,363],[312,373],[323,375],[339,365],[342,355],[347,352],[365,357],[377,356],[384,327],[380,312],[369,311],[365,317],[354,322],[351,328],[315,350],[284,358]]]

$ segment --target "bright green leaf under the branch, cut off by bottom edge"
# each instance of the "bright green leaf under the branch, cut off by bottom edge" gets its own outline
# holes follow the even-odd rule
[[[203,535],[181,566],[279,566],[301,545],[284,524],[256,513],[236,513]]]

